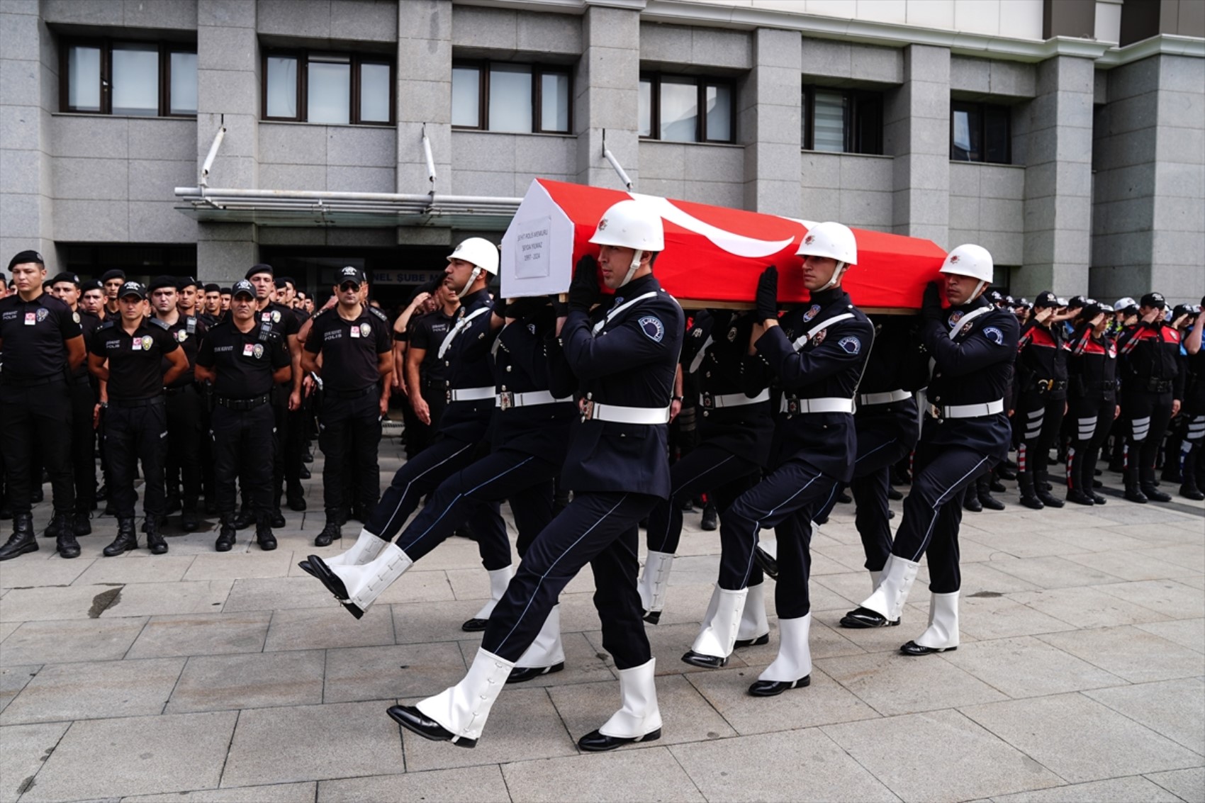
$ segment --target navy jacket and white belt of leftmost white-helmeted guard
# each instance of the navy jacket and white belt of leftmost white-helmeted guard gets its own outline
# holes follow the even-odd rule
[[[452,338],[452,345],[442,358],[448,391],[494,385],[493,358],[489,354],[494,344],[494,333],[489,328],[493,309],[494,299],[489,297],[487,289],[480,289],[460,299],[460,309],[457,310],[452,329],[445,335],[445,339]],[[436,354],[442,342],[434,344]],[[448,400],[443,417],[440,418],[439,432],[470,444],[484,440],[493,415],[493,395],[476,402]]]

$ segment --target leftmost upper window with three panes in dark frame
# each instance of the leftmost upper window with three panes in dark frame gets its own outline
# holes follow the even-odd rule
[[[181,42],[66,41],[59,107],[133,117],[196,116],[196,47]]]

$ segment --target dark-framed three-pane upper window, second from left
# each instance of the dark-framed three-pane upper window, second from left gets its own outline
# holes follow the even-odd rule
[[[264,119],[390,125],[393,61],[364,53],[266,51]]]

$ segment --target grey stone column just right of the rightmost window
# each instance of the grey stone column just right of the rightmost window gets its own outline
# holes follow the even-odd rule
[[[1089,59],[1060,55],[1038,65],[1038,94],[1023,112],[1025,247],[1013,294],[1088,289],[1093,86]]]

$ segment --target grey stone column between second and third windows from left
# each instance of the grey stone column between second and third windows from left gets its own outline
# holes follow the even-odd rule
[[[398,192],[452,192],[452,0],[398,4]],[[435,158],[428,177],[423,130]],[[446,228],[401,227],[398,241],[448,245]]]

